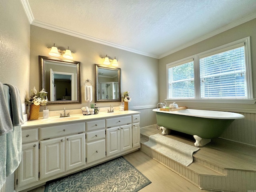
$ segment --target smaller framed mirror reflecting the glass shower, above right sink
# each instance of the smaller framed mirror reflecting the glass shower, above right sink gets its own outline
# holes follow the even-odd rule
[[[120,68],[95,64],[95,102],[120,102]]]

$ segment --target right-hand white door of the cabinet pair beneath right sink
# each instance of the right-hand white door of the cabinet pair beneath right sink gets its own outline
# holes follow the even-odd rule
[[[123,125],[120,126],[120,144],[121,144],[121,151],[128,150],[132,148],[132,125]]]

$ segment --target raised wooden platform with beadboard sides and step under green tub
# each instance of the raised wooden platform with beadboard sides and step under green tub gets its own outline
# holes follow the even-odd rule
[[[221,138],[212,139],[194,152],[186,167],[143,143],[150,135],[161,134],[156,125],[141,128],[141,151],[205,190],[248,192],[256,189],[256,147]],[[172,131],[166,137],[194,146],[190,135]]]

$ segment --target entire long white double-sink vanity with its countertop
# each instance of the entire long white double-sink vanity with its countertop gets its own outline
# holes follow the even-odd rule
[[[140,148],[140,112],[123,113],[25,122],[15,191],[27,191]]]

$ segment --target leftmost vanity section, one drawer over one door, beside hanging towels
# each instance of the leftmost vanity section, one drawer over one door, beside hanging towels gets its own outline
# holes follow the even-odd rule
[[[38,181],[38,129],[22,130],[22,158],[16,184],[25,186]]]

